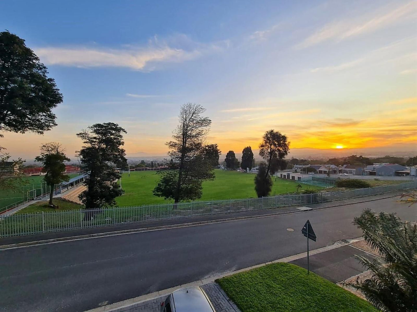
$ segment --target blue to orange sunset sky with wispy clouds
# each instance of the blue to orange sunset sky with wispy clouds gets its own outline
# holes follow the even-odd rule
[[[58,126],[5,133],[13,157],[102,122],[128,154],[163,155],[180,106],[212,120],[221,151],[256,149],[265,131],[291,148],[417,146],[416,1],[2,1],[63,93]],[[416,147],[417,150],[417,147]]]

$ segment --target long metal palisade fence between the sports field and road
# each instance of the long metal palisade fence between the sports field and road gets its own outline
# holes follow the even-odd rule
[[[417,188],[417,182],[351,191],[291,194],[263,198],[194,201],[178,204],[114,207],[98,210],[67,210],[0,216],[0,237],[94,228],[157,220],[240,213],[288,206],[304,206],[346,198]]]

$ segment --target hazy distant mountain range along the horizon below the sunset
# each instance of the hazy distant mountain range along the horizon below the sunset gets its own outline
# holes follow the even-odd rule
[[[252,150],[254,152],[255,159],[260,159],[259,149]],[[240,159],[242,157],[241,151],[234,151],[236,158]],[[226,157],[227,151],[221,154],[220,161],[223,161]],[[417,155],[417,143],[416,144],[394,144],[391,146],[383,147],[365,147],[361,149],[314,149],[310,147],[299,148],[299,149],[290,149],[287,159],[294,158],[304,158],[304,159],[328,159],[328,158],[338,158],[345,157],[350,155],[362,155],[367,157],[381,157],[385,155],[397,156],[397,157],[411,157]],[[137,152],[127,154],[126,158],[131,161],[136,160],[162,160],[163,158],[168,158],[168,155],[152,155],[145,152]]]

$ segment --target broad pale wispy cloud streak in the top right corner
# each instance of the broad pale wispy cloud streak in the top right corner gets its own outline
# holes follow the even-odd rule
[[[416,2],[411,1],[395,9],[392,9],[392,7],[384,7],[382,11],[378,10],[372,15],[362,15],[359,18],[331,22],[300,42],[295,48],[304,49],[327,40],[340,41],[349,37],[374,32],[388,25],[415,16],[416,8]]]

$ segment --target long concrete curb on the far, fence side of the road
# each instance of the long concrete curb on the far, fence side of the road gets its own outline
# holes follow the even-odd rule
[[[356,204],[360,204],[360,203],[368,203],[368,202],[371,202],[371,201],[380,201],[380,200],[384,200],[384,199],[387,199],[387,198],[394,198],[394,197],[398,197],[398,196],[399,195],[392,195],[392,196],[387,196],[387,197],[384,197],[384,198],[369,199],[369,200],[366,200],[366,201],[358,201],[358,202],[355,202],[355,203],[342,203],[342,204],[333,205],[333,206],[317,207],[317,208],[312,208],[312,210],[308,210],[308,211],[324,210],[324,209],[329,209],[329,208],[356,205]],[[296,206],[294,206],[294,208],[295,207]],[[171,229],[171,228],[183,228],[183,227],[189,227],[189,226],[197,226],[197,225],[204,225],[204,224],[211,224],[211,223],[230,222],[230,221],[236,221],[236,220],[246,220],[246,219],[254,219],[254,218],[267,218],[267,217],[271,217],[271,216],[275,216],[275,215],[288,215],[288,214],[304,213],[304,212],[306,212],[306,211],[303,211],[303,210],[298,211],[297,210],[297,211],[276,212],[276,213],[248,215],[248,216],[241,216],[241,217],[234,217],[234,218],[223,218],[223,219],[217,219],[217,220],[205,220],[205,221],[196,221],[196,222],[190,222],[190,223],[160,225],[160,226],[153,226],[153,227],[148,227],[148,228],[136,228],[136,229],[131,229],[131,230],[118,230],[118,231],[113,231],[113,232],[68,236],[68,237],[63,237],[63,238],[51,238],[51,239],[47,239],[47,240],[36,240],[36,241],[25,242],[25,243],[0,245],[0,250],[21,248],[21,247],[33,246],[33,245],[36,246],[36,245],[52,244],[52,243],[59,243],[59,242],[71,241],[71,240],[83,240],[83,239],[90,239],[90,238],[100,238],[100,237],[107,237],[107,236],[114,236],[114,235],[124,235],[124,234],[132,234],[132,233],[141,233],[141,232],[156,231],[156,230],[168,230],[168,229]]]

